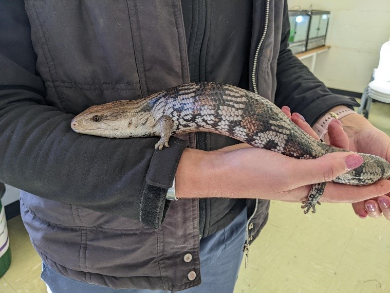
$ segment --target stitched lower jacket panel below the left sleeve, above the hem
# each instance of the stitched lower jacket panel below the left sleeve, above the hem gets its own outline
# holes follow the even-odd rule
[[[31,243],[51,267],[116,277],[161,276],[158,233],[138,221],[75,210],[26,192],[21,214]]]

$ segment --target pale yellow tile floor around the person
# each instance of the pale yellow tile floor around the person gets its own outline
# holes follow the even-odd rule
[[[390,104],[374,103],[369,120],[390,135]],[[46,292],[20,216],[8,221],[8,230],[12,264],[0,292]],[[235,293],[390,292],[390,222],[360,219],[347,204],[304,215],[299,204],[272,202],[268,225],[249,253]]]

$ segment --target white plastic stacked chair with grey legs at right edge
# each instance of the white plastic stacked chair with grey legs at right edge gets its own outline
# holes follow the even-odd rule
[[[390,104],[390,41],[382,45],[378,68],[374,69],[372,81],[364,89],[358,113],[368,118],[372,101]]]

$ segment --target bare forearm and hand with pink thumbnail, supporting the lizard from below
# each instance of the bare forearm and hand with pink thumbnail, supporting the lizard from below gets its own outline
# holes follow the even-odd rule
[[[312,185],[330,181],[362,163],[360,156],[339,152],[313,160],[237,144],[218,151],[187,149],[176,172],[177,197],[263,198],[302,202]],[[346,163],[352,158],[351,163]],[[390,191],[390,182],[356,187],[328,183],[322,202],[354,203]]]

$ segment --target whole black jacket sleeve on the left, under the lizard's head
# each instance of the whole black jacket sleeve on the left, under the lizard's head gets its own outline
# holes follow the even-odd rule
[[[45,101],[22,0],[0,2],[0,182],[157,228],[187,143],[73,132],[73,115]]]

